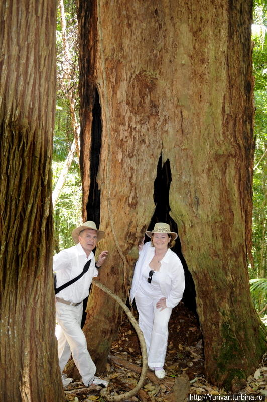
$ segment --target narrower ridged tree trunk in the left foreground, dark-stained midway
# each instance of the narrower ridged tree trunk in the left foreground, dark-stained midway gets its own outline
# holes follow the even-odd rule
[[[56,2],[0,6],[0,396],[63,401],[51,203]]]

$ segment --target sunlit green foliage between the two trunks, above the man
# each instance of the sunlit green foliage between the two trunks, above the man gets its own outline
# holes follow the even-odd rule
[[[70,93],[78,116],[78,34],[75,1],[65,1],[67,52],[63,47],[61,15],[57,16],[57,109],[53,148],[53,187],[73,142]],[[54,209],[56,251],[73,246],[72,230],[82,222],[82,188],[78,158],[74,158]]]

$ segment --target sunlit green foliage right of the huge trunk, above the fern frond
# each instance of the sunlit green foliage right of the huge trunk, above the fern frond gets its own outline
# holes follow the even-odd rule
[[[250,277],[263,278],[266,272],[266,149],[267,149],[267,2],[257,0],[254,4],[253,74],[255,77],[255,159],[253,177],[252,253],[254,269]],[[253,294],[257,304],[257,293]]]

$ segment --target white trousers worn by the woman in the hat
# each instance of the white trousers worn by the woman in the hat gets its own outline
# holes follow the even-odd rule
[[[139,312],[138,324],[143,331],[147,345],[148,365],[151,368],[163,367],[168,342],[168,323],[171,307],[156,308],[158,299],[152,299],[138,293],[135,297]]]

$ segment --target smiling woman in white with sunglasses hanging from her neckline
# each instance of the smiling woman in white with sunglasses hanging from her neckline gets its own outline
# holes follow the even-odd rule
[[[178,256],[170,250],[177,233],[166,223],[156,223],[146,232],[151,242],[139,246],[140,254],[130,290],[131,302],[136,299],[139,326],[147,345],[148,365],[155,375],[165,377],[163,369],[168,341],[168,322],[183,297],[184,270]]]

